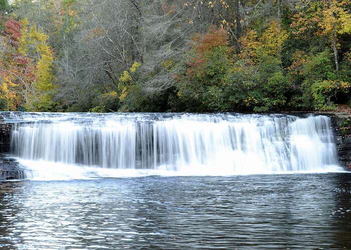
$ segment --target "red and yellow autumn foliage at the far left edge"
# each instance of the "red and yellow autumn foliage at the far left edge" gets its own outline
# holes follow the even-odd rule
[[[0,20],[1,21],[1,20]],[[4,20],[5,21],[5,20]],[[52,73],[53,54],[48,36],[29,22],[10,16],[0,36],[0,98],[3,109],[54,110]]]

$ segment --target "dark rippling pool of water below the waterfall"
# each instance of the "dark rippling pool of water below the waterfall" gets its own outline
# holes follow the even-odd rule
[[[349,173],[0,183],[1,249],[349,249]]]

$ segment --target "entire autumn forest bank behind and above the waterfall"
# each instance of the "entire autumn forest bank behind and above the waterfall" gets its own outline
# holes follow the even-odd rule
[[[0,0],[0,109],[335,110],[347,0]]]

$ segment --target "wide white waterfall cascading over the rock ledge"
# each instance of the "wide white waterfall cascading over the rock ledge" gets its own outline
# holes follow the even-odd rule
[[[340,170],[322,115],[11,112],[7,122],[14,156],[43,177]]]

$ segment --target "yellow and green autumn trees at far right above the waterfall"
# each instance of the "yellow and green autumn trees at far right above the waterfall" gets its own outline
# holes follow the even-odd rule
[[[350,44],[339,41],[349,37],[350,21],[345,1],[317,0],[294,15],[291,30],[299,49],[287,68],[296,86],[293,105],[330,109],[332,100],[349,92],[350,78],[344,68],[339,72],[339,58],[345,58]]]

